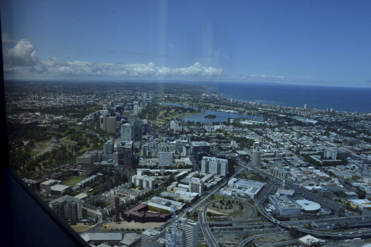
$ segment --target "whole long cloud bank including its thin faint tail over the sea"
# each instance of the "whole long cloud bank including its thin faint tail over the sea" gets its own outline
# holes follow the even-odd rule
[[[3,33],[4,34],[4,33]],[[4,35],[3,35],[4,37]],[[6,37],[6,35],[5,35]],[[12,40],[6,39],[7,42]],[[101,76],[105,79],[185,79],[240,82],[281,82],[302,84],[333,84],[334,81],[287,78],[281,75],[243,75],[227,73],[216,67],[194,63],[189,67],[169,68],[150,62],[139,63],[92,63],[86,61],[68,62],[61,59],[41,59],[35,46],[27,39],[19,40],[13,48],[4,52],[4,74],[6,78],[85,78]]]

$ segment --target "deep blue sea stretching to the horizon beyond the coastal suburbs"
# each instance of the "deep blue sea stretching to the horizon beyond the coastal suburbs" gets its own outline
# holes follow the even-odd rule
[[[188,82],[187,82],[188,83]],[[371,88],[287,85],[253,82],[192,82],[211,86],[208,92],[222,97],[268,105],[283,105],[334,111],[371,113]]]

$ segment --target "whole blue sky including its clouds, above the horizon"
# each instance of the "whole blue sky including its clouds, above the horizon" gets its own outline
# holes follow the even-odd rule
[[[8,79],[371,86],[371,1],[1,1]]]

